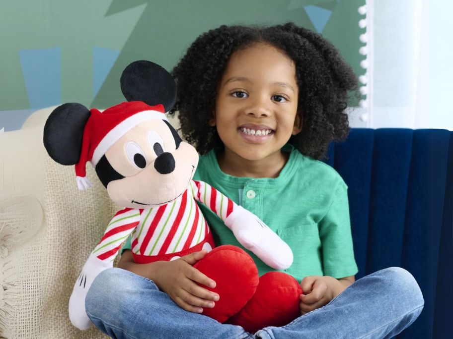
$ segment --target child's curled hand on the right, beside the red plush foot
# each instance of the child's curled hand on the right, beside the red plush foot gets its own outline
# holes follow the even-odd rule
[[[303,278],[301,282],[302,291],[299,303],[301,315],[324,306],[334,298],[334,285],[332,277],[309,276]]]

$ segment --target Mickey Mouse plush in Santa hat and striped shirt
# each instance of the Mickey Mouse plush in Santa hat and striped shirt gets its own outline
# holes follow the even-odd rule
[[[126,67],[120,82],[127,102],[102,113],[64,104],[50,114],[44,127],[47,152],[62,165],[75,165],[78,188],[91,186],[85,176],[89,161],[110,198],[124,207],[75,282],[69,315],[82,330],[91,324],[84,307],[88,288],[99,273],[113,266],[129,235],[138,263],[174,260],[215,247],[196,202],[215,212],[237,240],[267,265],[283,270],[293,261],[290,247],[255,215],[214,187],[192,179],[198,154],[165,116],[176,101],[170,74],[150,61],[136,61]],[[240,248],[217,247],[195,267],[217,282],[209,289],[221,298],[204,314],[220,322],[253,331],[283,325],[297,316],[302,292],[298,282],[281,272],[259,278],[253,260]]]

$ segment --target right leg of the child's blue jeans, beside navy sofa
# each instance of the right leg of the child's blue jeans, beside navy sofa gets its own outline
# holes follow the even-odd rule
[[[404,269],[378,271],[345,289],[330,303],[283,327],[258,331],[256,338],[391,338],[420,315],[424,300]]]

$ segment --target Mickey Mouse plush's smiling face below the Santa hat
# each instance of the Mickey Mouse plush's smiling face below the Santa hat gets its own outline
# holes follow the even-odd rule
[[[96,171],[116,204],[149,208],[184,193],[197,165],[195,148],[182,142],[170,124],[156,119],[138,124],[118,139]],[[105,172],[110,179],[102,177]]]

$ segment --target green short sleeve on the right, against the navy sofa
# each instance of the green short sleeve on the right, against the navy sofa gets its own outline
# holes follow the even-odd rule
[[[336,187],[330,207],[319,223],[323,272],[336,279],[357,274],[349,217],[347,186]]]

